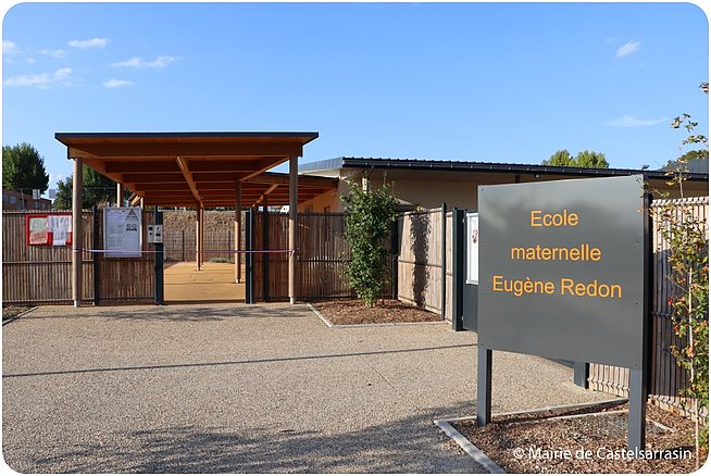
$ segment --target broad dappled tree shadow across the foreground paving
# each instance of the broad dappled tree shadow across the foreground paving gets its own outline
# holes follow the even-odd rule
[[[177,426],[104,434],[101,441],[51,449],[52,455],[17,458],[13,452],[5,461],[20,472],[55,473],[479,473],[483,469],[432,423],[435,415],[471,410],[470,404],[439,408],[327,434],[286,426]]]

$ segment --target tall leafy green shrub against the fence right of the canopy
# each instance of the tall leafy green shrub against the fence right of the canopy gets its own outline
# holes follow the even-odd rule
[[[373,306],[383,295],[388,273],[387,238],[397,220],[396,200],[387,185],[366,189],[352,180],[341,197],[346,212],[346,240],[351,260],[346,274],[350,286],[365,305]]]

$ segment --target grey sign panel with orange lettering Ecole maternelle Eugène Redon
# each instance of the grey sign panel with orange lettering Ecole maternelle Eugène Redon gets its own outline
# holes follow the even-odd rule
[[[643,368],[643,177],[481,186],[486,349]]]

